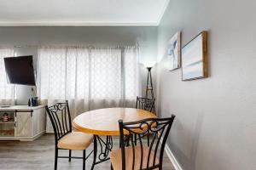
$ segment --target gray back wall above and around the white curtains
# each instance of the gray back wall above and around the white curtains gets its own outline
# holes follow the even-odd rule
[[[142,64],[156,59],[157,26],[23,26],[0,27],[0,47],[18,45],[140,46]],[[37,48],[15,48],[17,55],[33,54]],[[141,65],[142,82],[146,68]],[[143,83],[141,84],[143,88]],[[17,105],[27,105],[30,87],[17,86]]]

